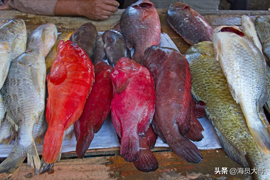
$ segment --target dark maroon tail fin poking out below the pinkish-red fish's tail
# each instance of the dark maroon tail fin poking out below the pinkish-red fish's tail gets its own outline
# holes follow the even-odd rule
[[[142,172],[150,172],[158,169],[158,160],[149,149],[140,149],[139,159],[133,162],[134,166]]]

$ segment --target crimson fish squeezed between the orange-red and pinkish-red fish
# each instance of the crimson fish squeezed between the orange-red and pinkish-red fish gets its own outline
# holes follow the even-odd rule
[[[103,61],[95,64],[94,70],[95,82],[84,104],[82,116],[74,123],[76,153],[81,159],[89,148],[94,134],[100,130],[110,113],[113,99],[113,85],[110,80],[113,67]]]

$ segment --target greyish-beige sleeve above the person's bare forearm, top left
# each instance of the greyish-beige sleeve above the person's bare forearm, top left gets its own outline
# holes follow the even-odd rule
[[[58,0],[9,0],[8,4],[19,11],[38,15],[54,15]]]

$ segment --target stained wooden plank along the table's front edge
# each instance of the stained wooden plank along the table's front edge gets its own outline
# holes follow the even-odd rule
[[[34,170],[23,163],[18,172],[12,176],[0,174],[0,179],[9,180],[79,180],[79,179],[118,179],[118,180],[145,180],[145,179],[250,179],[251,175],[215,174],[215,167],[240,168],[241,166],[231,160],[223,150],[202,151],[203,162],[188,163],[172,151],[154,153],[159,162],[155,172],[140,172],[133,163],[126,162],[121,156],[106,156],[85,158],[83,160],[69,159],[55,162],[52,174],[34,175]]]

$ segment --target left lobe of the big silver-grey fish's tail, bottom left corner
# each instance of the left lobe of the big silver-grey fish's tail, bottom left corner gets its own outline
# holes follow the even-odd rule
[[[27,153],[11,152],[8,157],[0,164],[0,174],[4,172],[9,175],[15,174],[26,157]]]

